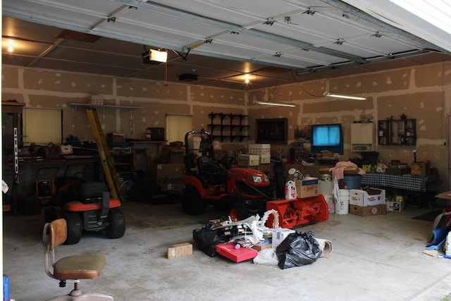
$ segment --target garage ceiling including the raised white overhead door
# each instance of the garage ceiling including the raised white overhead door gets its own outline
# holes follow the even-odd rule
[[[449,34],[389,0],[347,2],[367,13],[338,0],[3,0],[3,63],[249,90],[451,59]],[[143,63],[147,49],[168,62]]]

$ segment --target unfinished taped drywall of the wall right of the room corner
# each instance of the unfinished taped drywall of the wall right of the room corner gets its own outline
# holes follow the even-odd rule
[[[272,91],[274,91],[272,93]],[[364,95],[366,101],[322,97],[323,92]],[[271,97],[271,94],[273,96]],[[345,154],[341,159],[359,157],[351,151],[350,124],[362,114],[373,121],[377,139],[377,121],[399,119],[402,114],[416,119],[415,147],[378,146],[376,152],[385,163],[399,159],[412,163],[413,151],[418,159],[431,161],[443,179],[438,190],[447,190],[448,147],[446,145],[451,113],[451,63],[436,63],[416,68],[400,68],[364,75],[331,78],[248,92],[249,119],[286,117],[289,121],[288,144],[294,141],[295,125],[341,123],[344,129]],[[295,108],[252,104],[253,99],[292,102]],[[253,125],[251,124],[253,127]],[[251,130],[251,133],[252,130]],[[377,140],[376,140],[377,142]],[[309,144],[305,144],[307,151]],[[275,146],[283,150],[286,145]]]

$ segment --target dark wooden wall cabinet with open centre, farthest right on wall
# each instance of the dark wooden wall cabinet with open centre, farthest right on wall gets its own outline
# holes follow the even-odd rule
[[[416,145],[416,119],[378,121],[379,145]]]

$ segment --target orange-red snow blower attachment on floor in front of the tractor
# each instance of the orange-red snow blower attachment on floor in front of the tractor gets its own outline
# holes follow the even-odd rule
[[[293,228],[309,223],[327,221],[329,218],[329,207],[323,195],[266,202],[266,210],[271,209],[278,211],[281,228]],[[268,217],[266,225],[272,224],[273,216],[271,215]]]

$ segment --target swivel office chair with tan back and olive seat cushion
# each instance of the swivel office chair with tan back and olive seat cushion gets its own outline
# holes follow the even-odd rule
[[[74,288],[68,295],[58,296],[48,301],[113,301],[110,295],[100,293],[83,293],[78,288],[80,279],[94,279],[100,276],[106,259],[102,255],[74,255],[55,261],[55,248],[63,244],[67,237],[65,219],[56,219],[44,225],[42,245],[44,245],[44,269],[46,274],[60,281],[61,288],[66,287],[66,280],[73,280]],[[52,271],[50,271],[50,265]]]

